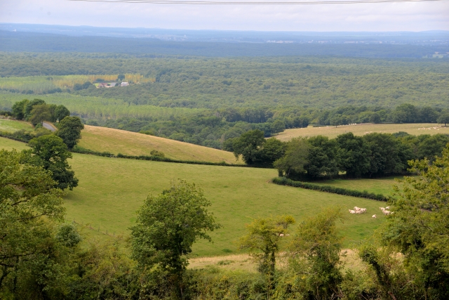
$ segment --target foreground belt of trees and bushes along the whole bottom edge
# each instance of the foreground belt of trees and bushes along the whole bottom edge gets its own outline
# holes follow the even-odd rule
[[[449,147],[415,160],[389,202],[394,214],[354,249],[344,268],[340,208],[300,220],[253,219],[239,248],[257,273],[187,268],[192,245],[220,230],[193,183],[149,195],[130,228],[129,248],[87,241],[63,222],[62,190],[29,152],[0,151],[2,299],[447,299]],[[283,263],[280,264],[280,258]]]

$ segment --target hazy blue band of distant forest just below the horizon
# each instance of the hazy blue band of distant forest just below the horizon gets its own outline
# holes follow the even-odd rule
[[[0,51],[10,52],[163,53],[210,57],[330,55],[422,58],[431,56],[436,51],[447,51],[445,45],[216,43],[114,37],[68,37],[62,34],[7,32],[4,30],[0,30],[0,41]]]

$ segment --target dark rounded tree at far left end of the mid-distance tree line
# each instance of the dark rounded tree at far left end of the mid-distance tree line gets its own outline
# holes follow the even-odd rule
[[[246,164],[262,164],[262,146],[265,143],[264,132],[260,130],[252,130],[243,133],[239,138],[234,140],[232,148],[234,148],[234,156],[239,159],[240,155]]]

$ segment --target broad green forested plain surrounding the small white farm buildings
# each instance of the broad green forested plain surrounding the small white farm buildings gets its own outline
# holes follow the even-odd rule
[[[0,58],[2,110],[24,98],[41,98],[65,105],[86,124],[213,148],[253,129],[271,136],[309,124],[437,122],[448,109],[446,59],[108,53],[0,53]],[[130,86],[93,85],[117,81],[119,74]]]

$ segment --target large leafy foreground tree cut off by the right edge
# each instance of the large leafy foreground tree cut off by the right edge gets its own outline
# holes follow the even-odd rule
[[[406,272],[412,276],[408,285],[423,289],[425,299],[449,297],[448,170],[449,146],[433,164],[428,159],[415,160],[410,171],[418,176],[405,177],[396,185],[398,197],[391,199],[394,214],[377,235],[388,250],[387,256],[397,252],[403,255]],[[372,257],[371,265],[375,266],[378,259]],[[387,275],[389,281],[380,278],[386,289],[394,279],[394,274]]]

